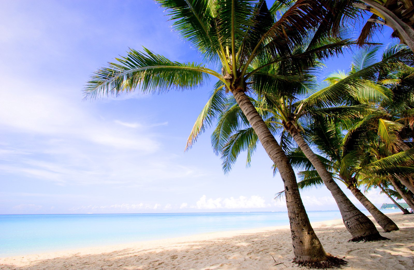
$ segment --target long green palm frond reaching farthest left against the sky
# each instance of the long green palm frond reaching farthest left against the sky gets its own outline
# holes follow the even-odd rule
[[[99,69],[83,89],[85,98],[118,96],[135,88],[145,92],[162,93],[170,89],[192,89],[201,86],[208,74],[222,76],[203,65],[168,60],[144,48],[144,52],[131,49],[117,63]]]

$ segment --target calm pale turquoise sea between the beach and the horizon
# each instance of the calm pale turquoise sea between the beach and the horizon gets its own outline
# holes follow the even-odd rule
[[[339,211],[308,216],[311,222],[341,218]],[[289,225],[287,212],[0,215],[0,256],[283,225]]]

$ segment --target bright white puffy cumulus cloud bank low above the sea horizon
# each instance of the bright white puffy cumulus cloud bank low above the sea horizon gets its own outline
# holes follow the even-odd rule
[[[197,209],[243,209],[243,208],[265,208],[270,207],[269,203],[265,202],[265,199],[260,196],[240,196],[238,198],[207,198],[203,195],[196,203]]]

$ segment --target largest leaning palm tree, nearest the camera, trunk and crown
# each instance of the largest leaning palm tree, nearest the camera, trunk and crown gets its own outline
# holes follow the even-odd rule
[[[214,76],[240,106],[258,135],[267,154],[279,168],[286,190],[286,204],[291,224],[294,261],[300,264],[328,266],[344,261],[326,253],[310,226],[301,201],[296,177],[282,148],[272,136],[246,95],[251,77],[263,68],[290,59],[291,68],[301,69],[298,59],[314,54],[320,36],[340,25],[347,1],[298,0],[291,5],[276,1],[269,11],[265,0],[158,0],[165,7],[173,27],[189,41],[207,62],[220,67],[213,70],[197,63],[179,63],[144,49],[130,50],[126,57],[109,63],[92,76],[84,93],[86,98],[118,95],[139,88],[142,92],[164,92],[172,88],[190,89]],[[280,12],[283,10],[283,12]],[[299,58],[292,57],[294,44],[303,43],[313,33]],[[320,56],[342,51],[348,41],[332,40],[320,50]],[[269,60],[264,62],[263,60]],[[251,64],[258,64],[255,70]]]

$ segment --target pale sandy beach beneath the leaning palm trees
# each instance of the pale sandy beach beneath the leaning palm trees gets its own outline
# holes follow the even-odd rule
[[[312,226],[327,252],[348,261],[345,269],[412,270],[414,214],[388,215],[400,227],[381,233],[388,241],[348,243],[342,220]],[[0,258],[0,269],[298,269],[293,257],[289,228],[270,227]]]

